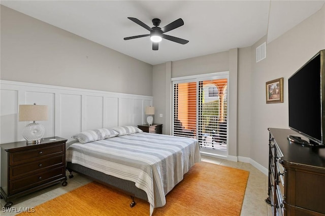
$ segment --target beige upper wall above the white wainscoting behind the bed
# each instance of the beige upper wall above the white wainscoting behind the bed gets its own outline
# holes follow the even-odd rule
[[[0,78],[152,96],[152,65],[2,5]]]

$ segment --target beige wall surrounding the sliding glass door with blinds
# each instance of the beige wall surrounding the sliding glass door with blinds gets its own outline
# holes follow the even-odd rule
[[[229,128],[230,134],[233,134],[233,136],[229,138],[229,155],[237,156],[237,68],[238,49],[154,65],[153,105],[155,109],[159,109],[159,113],[162,113],[164,116],[164,118],[160,118],[157,113],[154,116],[154,121],[169,125],[165,126],[165,129],[171,128],[171,78],[229,71],[230,89],[228,91],[229,107],[231,108],[229,110],[229,116],[232,116],[229,119]],[[163,83],[165,83],[165,85]],[[164,132],[170,134],[170,131]]]

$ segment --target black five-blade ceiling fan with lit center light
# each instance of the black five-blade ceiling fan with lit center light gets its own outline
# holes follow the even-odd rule
[[[150,39],[152,41],[152,50],[158,50],[158,42],[160,42],[162,38],[177,42],[179,44],[187,44],[188,43],[188,40],[164,34],[168,31],[171,31],[175,28],[178,28],[178,27],[184,25],[184,22],[181,18],[175,20],[174,22],[171,22],[170,24],[166,25],[163,28],[158,27],[158,25],[161,22],[160,19],[158,19],[158,18],[154,18],[152,20],[152,24],[154,25],[154,27],[152,27],[152,28],[150,28],[149,26],[147,26],[146,24],[144,24],[142,21],[138,20],[137,18],[127,17],[127,19],[132,20],[133,22],[137,23],[138,25],[141,25],[142,27],[144,27],[145,29],[150,31],[150,34],[141,34],[141,35],[132,36],[132,37],[124,37],[124,40],[150,36]]]

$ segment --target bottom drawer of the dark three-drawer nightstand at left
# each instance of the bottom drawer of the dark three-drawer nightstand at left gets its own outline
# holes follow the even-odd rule
[[[63,175],[65,174],[65,169],[66,168],[62,166],[48,171],[39,172],[25,178],[10,181],[9,194],[16,194],[60,178],[65,178],[65,175]]]

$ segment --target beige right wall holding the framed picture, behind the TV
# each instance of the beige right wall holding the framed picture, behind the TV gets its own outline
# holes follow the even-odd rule
[[[325,6],[320,11],[267,44],[266,59],[255,63],[252,55],[250,158],[268,167],[268,127],[288,128],[288,78],[325,49]],[[266,37],[251,47],[252,54]],[[283,103],[266,104],[265,83],[283,77]],[[240,80],[242,81],[242,80]],[[241,88],[239,89],[239,92]],[[308,103],[308,99],[305,99]],[[238,107],[239,110],[242,107]],[[239,119],[240,120],[240,119]],[[241,145],[242,143],[239,143]]]

